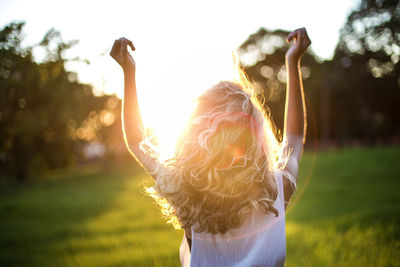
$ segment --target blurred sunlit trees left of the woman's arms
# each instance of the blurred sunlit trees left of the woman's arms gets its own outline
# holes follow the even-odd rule
[[[64,52],[76,42],[51,29],[36,46],[46,51],[37,63],[33,47],[21,46],[23,27],[0,31],[0,178],[20,180],[84,159],[89,143],[112,147],[110,138],[122,140],[115,123],[120,100],[95,97],[64,68]]]

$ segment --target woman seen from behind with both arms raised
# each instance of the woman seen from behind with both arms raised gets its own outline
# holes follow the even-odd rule
[[[122,121],[130,153],[153,176],[148,192],[185,236],[183,266],[283,266],[285,209],[297,183],[306,131],[300,60],[305,28],[287,36],[283,142],[251,85],[223,81],[198,99],[175,155],[163,163],[146,149],[135,85],[132,42],[116,40],[111,56],[124,71]]]

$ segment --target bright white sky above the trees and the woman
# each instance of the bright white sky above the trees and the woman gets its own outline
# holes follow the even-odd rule
[[[210,85],[231,77],[231,51],[260,27],[306,27],[312,49],[330,58],[340,28],[359,0],[236,1],[1,0],[0,27],[26,21],[26,44],[55,28],[64,40],[79,40],[68,56],[82,82],[97,91],[123,94],[122,71],[108,56],[113,41],[136,47],[137,87],[145,123],[159,131],[177,129],[192,100]]]

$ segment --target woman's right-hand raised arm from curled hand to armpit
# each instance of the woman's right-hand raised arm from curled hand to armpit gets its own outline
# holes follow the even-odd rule
[[[287,203],[294,192],[292,182],[297,183],[298,165],[305,141],[307,121],[300,61],[311,41],[305,28],[290,33],[286,41],[293,41],[293,44],[286,52],[287,90],[283,140],[287,142],[286,151],[290,152],[286,170],[294,178],[294,181],[284,179]]]

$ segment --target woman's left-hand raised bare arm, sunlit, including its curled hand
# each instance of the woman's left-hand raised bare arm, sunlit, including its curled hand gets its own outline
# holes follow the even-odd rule
[[[124,72],[124,99],[122,104],[122,131],[125,145],[131,155],[149,172],[157,170],[158,163],[146,155],[139,147],[143,140],[143,122],[136,94],[136,64],[128,51],[135,50],[132,42],[120,38],[114,42],[110,55],[118,62]],[[154,176],[153,176],[154,177]]]

